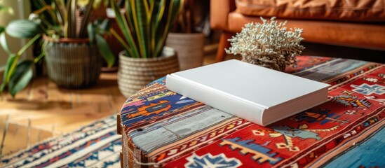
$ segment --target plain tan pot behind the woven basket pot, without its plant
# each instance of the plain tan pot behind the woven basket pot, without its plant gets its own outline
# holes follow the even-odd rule
[[[169,33],[166,41],[166,45],[174,48],[178,53],[180,70],[202,66],[204,44],[205,35],[203,33]]]

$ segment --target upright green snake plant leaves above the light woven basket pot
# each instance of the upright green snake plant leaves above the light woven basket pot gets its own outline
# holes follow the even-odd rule
[[[125,12],[110,0],[122,31],[112,34],[122,43],[128,57],[160,57],[168,32],[182,8],[183,0],[126,0]]]

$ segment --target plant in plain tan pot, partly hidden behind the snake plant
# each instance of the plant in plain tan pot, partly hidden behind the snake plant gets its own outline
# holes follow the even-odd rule
[[[173,29],[168,34],[166,45],[178,53],[180,70],[202,66],[205,35],[194,29],[194,0],[184,0]]]

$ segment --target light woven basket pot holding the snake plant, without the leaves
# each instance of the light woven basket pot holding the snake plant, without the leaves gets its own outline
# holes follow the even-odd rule
[[[164,47],[163,56],[154,58],[127,57],[119,54],[118,86],[124,97],[130,97],[151,81],[179,71],[177,54],[173,48]]]

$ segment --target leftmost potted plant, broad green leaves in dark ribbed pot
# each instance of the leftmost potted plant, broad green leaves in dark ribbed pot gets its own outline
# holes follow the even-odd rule
[[[94,1],[53,0],[51,4],[37,1],[41,8],[29,15],[29,20],[13,20],[0,28],[1,34],[15,38],[31,38],[18,52],[9,50],[5,37],[1,45],[9,57],[0,91],[6,87],[11,95],[22,90],[31,80],[32,65],[45,55],[48,77],[60,87],[81,88],[96,83],[100,75],[101,57],[114,64],[103,34],[108,20],[89,23]],[[1,35],[4,36],[4,35]],[[41,55],[33,61],[22,60],[27,48],[43,37]]]

